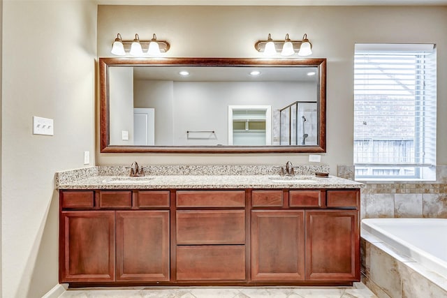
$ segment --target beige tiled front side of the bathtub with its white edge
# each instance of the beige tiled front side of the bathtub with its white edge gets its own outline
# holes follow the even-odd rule
[[[362,229],[362,282],[379,298],[447,297],[446,278]],[[422,274],[421,274],[422,273]]]

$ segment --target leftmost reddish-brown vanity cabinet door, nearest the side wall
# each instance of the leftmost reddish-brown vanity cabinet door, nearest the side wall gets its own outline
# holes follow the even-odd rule
[[[62,211],[59,280],[115,281],[115,211]]]

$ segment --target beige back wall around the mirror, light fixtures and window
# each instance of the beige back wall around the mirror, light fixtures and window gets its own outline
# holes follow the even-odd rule
[[[119,16],[119,17],[117,17]],[[112,57],[117,33],[168,40],[168,57],[261,57],[254,50],[268,33],[301,39],[312,57],[328,59],[327,153],[322,163],[353,163],[354,43],[436,43],[438,82],[447,80],[447,7],[434,6],[98,6],[98,57]],[[447,85],[438,86],[438,163],[447,163]],[[99,165],[184,163],[307,163],[307,154],[99,154]]]

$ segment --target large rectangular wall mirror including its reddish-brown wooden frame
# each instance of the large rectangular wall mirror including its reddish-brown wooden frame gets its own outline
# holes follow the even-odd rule
[[[100,58],[101,152],[325,152],[326,59]]]

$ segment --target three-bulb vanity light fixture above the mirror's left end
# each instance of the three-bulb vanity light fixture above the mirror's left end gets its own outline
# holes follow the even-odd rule
[[[135,34],[133,40],[122,40],[121,34],[118,33],[115,42],[112,45],[111,53],[117,56],[125,56],[127,52],[135,57],[159,56],[159,54],[168,52],[170,48],[166,40],[157,40],[153,34],[151,40],[140,40],[140,36]]]

